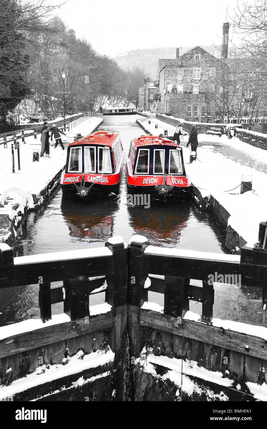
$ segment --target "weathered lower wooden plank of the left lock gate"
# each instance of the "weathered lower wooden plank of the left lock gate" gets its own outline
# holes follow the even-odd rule
[[[85,317],[5,338],[0,340],[0,358],[41,347],[45,344],[74,338],[87,332],[111,328],[115,322],[115,317],[111,317],[111,314],[112,312],[108,312],[104,315],[101,314],[93,317],[90,320],[88,320],[88,317]]]

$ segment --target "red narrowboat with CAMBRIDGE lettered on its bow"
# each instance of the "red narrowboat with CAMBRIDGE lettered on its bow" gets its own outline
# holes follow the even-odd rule
[[[117,196],[123,160],[118,133],[99,131],[70,143],[60,180],[63,196],[83,200]]]

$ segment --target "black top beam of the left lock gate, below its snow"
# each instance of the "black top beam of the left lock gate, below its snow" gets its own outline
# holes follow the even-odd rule
[[[2,252],[0,252],[2,256]],[[16,258],[15,258],[16,259]],[[55,260],[25,263],[14,266],[0,265],[0,287],[75,280],[113,274],[113,256],[88,257],[82,259]]]

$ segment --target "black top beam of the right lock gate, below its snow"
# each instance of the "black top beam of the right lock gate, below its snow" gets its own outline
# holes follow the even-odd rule
[[[240,263],[144,253],[144,271],[205,280],[212,272],[240,274]]]

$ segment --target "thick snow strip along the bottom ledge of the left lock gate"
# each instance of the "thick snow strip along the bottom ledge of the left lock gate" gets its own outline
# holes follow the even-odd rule
[[[114,362],[114,357],[115,353],[112,352],[109,346],[107,350],[97,350],[89,354],[84,354],[82,350],[79,350],[74,356],[68,356],[64,364],[39,366],[32,374],[12,381],[9,386],[0,387],[0,401],[33,388],[41,388],[45,384],[50,385],[60,381],[60,379],[80,374],[89,369],[107,366]],[[105,371],[105,374],[108,375],[109,372]],[[94,381],[94,379],[90,381]],[[81,380],[80,383],[76,382],[74,387],[79,385],[81,385]]]

